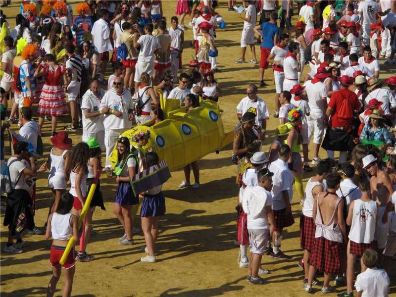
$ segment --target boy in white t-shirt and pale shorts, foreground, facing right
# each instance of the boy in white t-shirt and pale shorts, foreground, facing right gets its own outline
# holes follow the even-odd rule
[[[251,187],[244,194],[244,210],[247,213],[247,231],[250,241],[250,261],[247,280],[250,284],[262,285],[264,279],[258,276],[261,258],[267,250],[267,242],[271,232],[280,236],[272,213],[272,176],[268,169],[262,169],[257,174],[258,185]],[[258,210],[261,208],[261,210]],[[271,226],[271,227],[270,227]]]

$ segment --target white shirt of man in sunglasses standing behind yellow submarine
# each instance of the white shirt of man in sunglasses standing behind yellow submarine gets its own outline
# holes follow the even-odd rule
[[[131,121],[128,119],[128,111],[133,109],[131,92],[124,89],[122,94],[118,95],[114,89],[107,91],[100,101],[99,109],[106,106],[121,111],[122,117],[117,117],[114,114],[104,114],[103,125],[105,130],[131,128]]]

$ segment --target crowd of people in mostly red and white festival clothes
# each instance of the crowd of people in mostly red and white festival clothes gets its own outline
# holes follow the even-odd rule
[[[387,296],[390,260],[396,253],[396,76],[380,78],[379,58],[386,58],[388,66],[396,63],[395,2],[245,0],[240,7],[235,0],[228,2],[228,10],[237,11],[244,21],[241,57],[235,63],[246,63],[247,46],[252,54],[248,62],[259,63],[258,86],[250,84],[237,105],[233,140],[239,267],[249,267],[251,284],[264,284],[259,275],[269,273],[261,267],[265,253],[272,259],[291,258],[281,244],[284,229],[295,223],[295,195],[302,205],[303,290],[311,293],[312,286],[320,285],[322,293],[336,292],[330,286],[335,277],[336,286],[347,285],[340,296],[353,296],[355,261],[360,257],[361,274],[354,283],[358,296]],[[95,207],[105,209],[100,182],[81,230],[78,217],[97,172],[105,171],[117,183],[114,214],[124,229],[118,243],[133,245],[140,231],[136,225],[141,225],[147,253],[141,261],[156,261],[158,219],[165,213],[162,185],[135,194],[130,180],[157,164],[158,155],[153,148],[145,149],[149,130],[132,139],[121,133],[133,124],[163,120],[160,96],[179,99],[188,112],[200,99],[217,102],[224,95],[215,79],[221,72],[216,29],[225,26],[217,6],[212,0],[178,0],[179,23],[176,15],[170,21],[163,17],[157,0],[87,0],[76,5],[75,17],[66,1],[23,1],[23,13],[16,15],[12,30],[1,12],[1,167],[8,169],[11,185],[4,251],[22,252],[28,244],[21,238],[25,229],[44,234],[34,222],[36,177],[49,170],[53,203],[45,236],[53,239],[53,276],[48,296],[55,292],[61,267],[67,271],[64,296],[70,296],[75,261],[95,259],[87,245],[96,232]],[[293,11],[298,12],[295,26]],[[184,72],[186,15],[195,56]],[[260,44],[260,59],[255,43]],[[106,81],[108,64],[112,74]],[[309,72],[303,74],[305,65]],[[268,87],[264,72],[270,67],[275,82],[273,116],[279,118],[279,126],[265,153],[270,111],[258,93]],[[59,117],[68,114],[70,125],[59,129]],[[43,151],[42,141],[46,120],[51,121],[49,152]],[[4,163],[3,139],[10,124],[17,124],[19,132],[14,154]],[[68,133],[76,132],[81,141],[73,146]],[[311,138],[311,165],[316,169],[308,158]],[[114,147],[115,166],[109,159]],[[321,147],[326,159],[320,158]],[[44,154],[48,159],[38,166]],[[314,170],[304,188],[304,174]],[[198,161],[187,164],[184,173],[180,188],[200,188]],[[2,173],[2,181],[3,177],[6,180]],[[71,237],[79,250],[60,265]],[[324,282],[316,279],[320,273]]]

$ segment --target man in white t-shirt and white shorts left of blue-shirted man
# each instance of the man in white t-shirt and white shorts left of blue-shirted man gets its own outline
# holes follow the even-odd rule
[[[237,61],[238,63],[245,63],[245,54],[247,46],[250,46],[252,59],[249,60],[249,63],[256,64],[256,50],[254,48],[254,31],[253,28],[256,24],[257,19],[257,11],[256,7],[252,4],[253,1],[245,1],[246,4],[249,4],[245,10],[245,16],[242,16],[241,13],[238,13],[238,16],[244,20],[244,28],[242,30],[241,36],[241,58]]]

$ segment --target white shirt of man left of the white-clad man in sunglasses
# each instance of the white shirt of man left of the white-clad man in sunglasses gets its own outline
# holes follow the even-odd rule
[[[104,96],[103,89],[99,90],[99,98],[92,93],[91,90],[87,90],[83,95],[81,102],[81,109],[88,109],[90,112],[97,112],[100,110],[100,99]],[[103,115],[97,117],[85,117],[85,112],[83,114],[83,132],[84,133],[96,133],[98,131],[104,131],[103,125]]]

